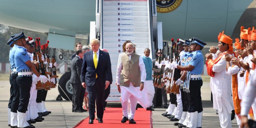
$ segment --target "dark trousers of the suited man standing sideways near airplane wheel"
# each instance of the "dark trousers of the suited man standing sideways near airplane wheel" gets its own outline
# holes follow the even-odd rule
[[[83,108],[83,100],[85,94],[85,88],[81,83],[71,83],[73,87],[73,96],[72,96],[72,109],[80,110]]]

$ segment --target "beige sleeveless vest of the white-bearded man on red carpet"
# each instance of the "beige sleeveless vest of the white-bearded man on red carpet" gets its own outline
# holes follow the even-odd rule
[[[120,74],[120,86],[129,87],[130,82],[134,87],[140,86],[140,56],[133,53],[129,60],[129,55],[125,54],[121,57],[123,69]]]

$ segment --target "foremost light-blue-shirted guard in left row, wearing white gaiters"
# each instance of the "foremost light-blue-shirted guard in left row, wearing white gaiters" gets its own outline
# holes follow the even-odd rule
[[[26,47],[29,47],[28,42],[25,40],[23,32],[13,37],[14,43],[17,46],[14,54],[14,63],[18,72],[16,78],[17,85],[19,87],[19,104],[17,111],[17,127],[19,128],[34,128],[26,121],[26,110],[29,103],[29,92],[32,84],[32,72],[37,75],[42,82],[46,82],[47,78],[44,75],[40,75],[36,70],[34,64],[30,61]]]

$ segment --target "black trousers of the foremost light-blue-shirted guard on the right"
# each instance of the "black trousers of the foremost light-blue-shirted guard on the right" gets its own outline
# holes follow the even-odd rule
[[[198,113],[203,111],[202,98],[201,98],[201,86],[203,85],[202,80],[189,81],[189,91],[188,95],[188,112]]]

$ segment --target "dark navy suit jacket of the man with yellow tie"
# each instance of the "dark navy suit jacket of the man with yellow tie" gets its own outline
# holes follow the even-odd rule
[[[96,73],[100,85],[104,86],[105,81],[111,81],[111,62],[109,53],[99,50],[99,59],[96,69],[93,62],[93,51],[84,54],[81,82],[85,82],[86,86],[93,86],[96,80]]]

